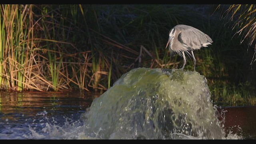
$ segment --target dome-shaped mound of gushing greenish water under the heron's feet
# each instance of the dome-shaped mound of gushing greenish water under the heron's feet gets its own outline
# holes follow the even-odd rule
[[[104,139],[222,139],[217,112],[198,72],[136,68],[81,118]]]

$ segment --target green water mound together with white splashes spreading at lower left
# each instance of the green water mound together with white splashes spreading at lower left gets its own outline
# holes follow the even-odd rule
[[[241,138],[231,132],[226,136],[206,78],[178,69],[130,70],[95,98],[80,119],[49,118],[52,112],[43,110],[23,125],[10,125],[6,118],[0,139]]]

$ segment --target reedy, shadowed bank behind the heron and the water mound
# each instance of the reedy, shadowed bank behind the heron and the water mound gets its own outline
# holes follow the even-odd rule
[[[214,41],[194,52],[214,103],[255,105],[246,43],[218,16],[182,5],[1,5],[1,89],[104,92],[132,68],[179,68],[182,58],[165,49],[176,24]]]

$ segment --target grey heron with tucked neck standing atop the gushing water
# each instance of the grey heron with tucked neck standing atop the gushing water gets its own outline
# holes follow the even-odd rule
[[[198,50],[201,47],[208,47],[208,44],[211,44],[213,41],[207,34],[203,33],[201,30],[194,28],[192,26],[187,26],[184,24],[178,24],[174,26],[169,33],[169,40],[166,44],[166,48],[169,44],[169,51],[176,52],[180,56],[183,56],[184,63],[182,70],[186,65],[185,53],[191,54],[188,51],[191,51],[194,61],[194,71],[196,70],[196,58],[194,56],[193,50]]]

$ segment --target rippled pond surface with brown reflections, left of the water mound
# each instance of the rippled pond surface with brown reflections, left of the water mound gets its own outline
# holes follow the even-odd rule
[[[75,139],[62,126],[79,127],[80,115],[99,94],[0,93],[0,139]]]

